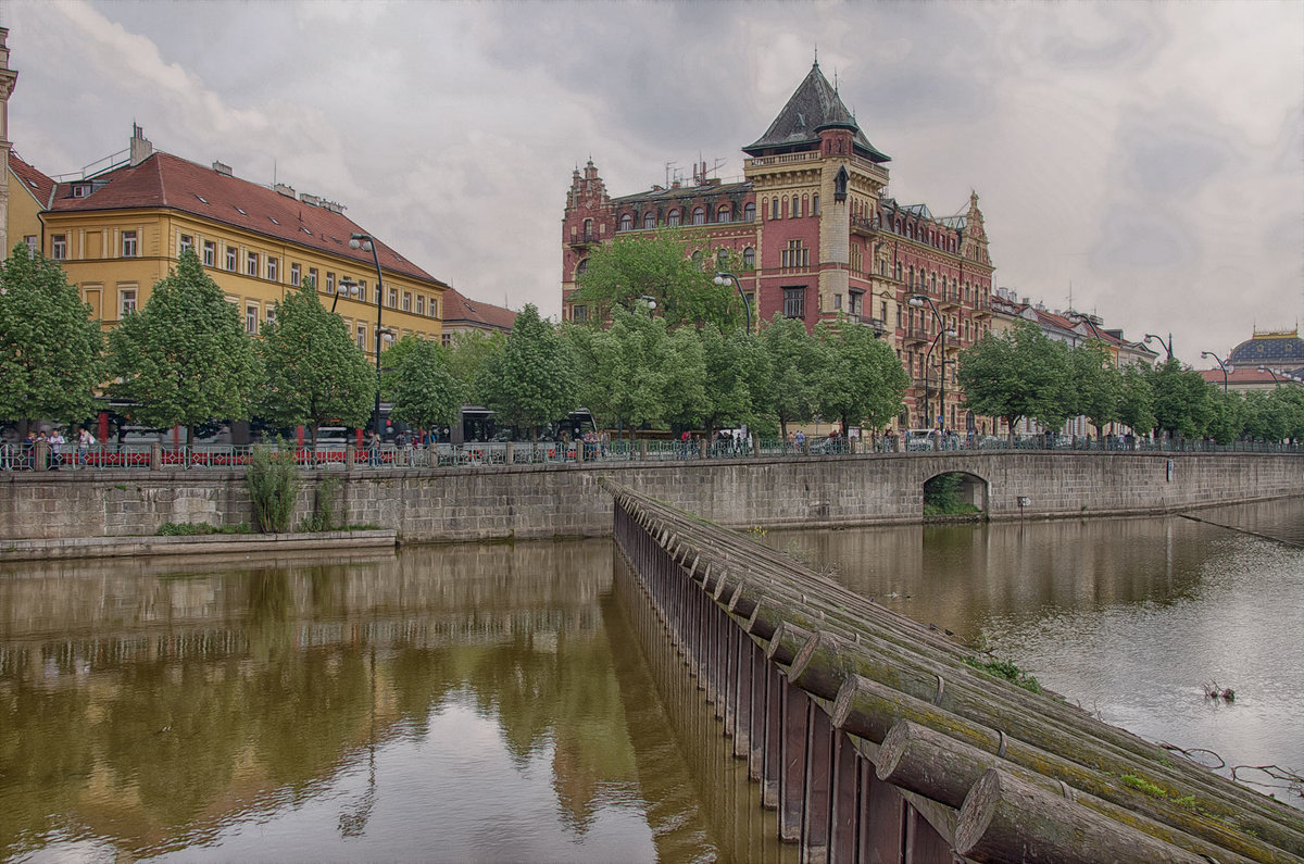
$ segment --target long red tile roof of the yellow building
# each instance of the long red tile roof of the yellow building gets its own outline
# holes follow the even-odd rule
[[[374,266],[369,251],[349,248],[349,235],[366,231],[344,214],[313,206],[257,183],[219,174],[170,153],[154,153],[137,166],[123,166],[76,183],[93,183],[94,192],[74,198],[74,183],[60,183],[50,210],[85,213],[170,208],[309,249],[353,258],[363,269]],[[376,248],[382,270],[442,285],[383,243],[377,240]]]

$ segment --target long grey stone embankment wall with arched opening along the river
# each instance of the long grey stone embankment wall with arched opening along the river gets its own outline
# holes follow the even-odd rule
[[[720,462],[585,463],[304,472],[293,522],[335,478],[338,521],[404,542],[605,535],[609,476],[721,525],[837,527],[918,521],[923,483],[981,478],[991,518],[1168,513],[1304,495],[1290,454],[938,453]],[[60,471],[0,476],[0,539],[147,535],[166,522],[239,525],[244,472]]]

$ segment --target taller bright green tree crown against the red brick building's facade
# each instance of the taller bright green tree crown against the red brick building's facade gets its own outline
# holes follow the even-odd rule
[[[662,231],[622,236],[596,247],[588,256],[572,301],[593,305],[591,320],[601,322],[612,309],[634,308],[639,298],[652,298],[656,312],[670,329],[683,324],[715,324],[729,333],[743,326],[742,298],[733,285],[713,282],[716,258],[702,252],[691,257],[689,235]],[[709,266],[707,266],[709,265]]]

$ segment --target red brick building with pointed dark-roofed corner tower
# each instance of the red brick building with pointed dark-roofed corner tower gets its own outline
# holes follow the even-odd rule
[[[703,255],[728,249],[743,262],[737,275],[759,320],[781,313],[811,328],[841,313],[891,339],[913,382],[901,425],[964,429],[971,419],[951,384],[949,360],[990,329],[991,317],[992,265],[977,193],[941,218],[889,197],[889,157],[865,137],[819,63],[743,153],[739,183],[708,177],[702,163],[691,185],[614,198],[592,161],[576,170],[562,222],[562,316],[591,315],[571,294],[595,244],[683,230]],[[922,305],[910,304],[914,295]],[[936,406],[943,368],[947,406],[923,416],[925,389]]]

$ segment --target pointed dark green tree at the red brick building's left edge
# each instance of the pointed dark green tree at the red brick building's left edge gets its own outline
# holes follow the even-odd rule
[[[553,325],[527,304],[516,316],[503,352],[482,369],[489,407],[501,423],[529,427],[566,416],[575,405],[570,355]]]

